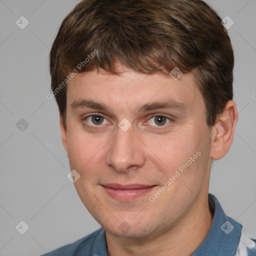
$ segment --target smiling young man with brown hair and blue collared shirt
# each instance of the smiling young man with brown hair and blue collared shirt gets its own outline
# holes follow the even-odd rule
[[[75,6],[51,48],[51,95],[75,188],[102,228],[50,255],[256,254],[208,194],[237,121],[232,69],[201,0]]]

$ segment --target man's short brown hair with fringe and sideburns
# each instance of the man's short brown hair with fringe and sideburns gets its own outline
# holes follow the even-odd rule
[[[95,49],[97,54],[85,61]],[[202,0],[79,2],[62,21],[50,51],[51,89],[64,124],[66,76],[74,69],[97,68],[118,74],[116,62],[145,74],[168,75],[174,67],[193,72],[208,126],[233,97],[230,38],[220,17]],[[78,63],[83,63],[79,70]]]

